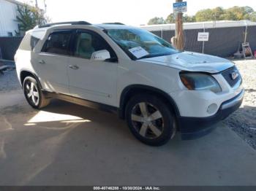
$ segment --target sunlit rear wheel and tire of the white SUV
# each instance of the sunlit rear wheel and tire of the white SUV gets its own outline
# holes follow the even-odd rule
[[[26,101],[34,109],[41,109],[50,104],[50,99],[45,98],[45,95],[42,93],[41,88],[37,82],[37,79],[34,77],[26,77],[23,81],[23,93],[25,95]]]

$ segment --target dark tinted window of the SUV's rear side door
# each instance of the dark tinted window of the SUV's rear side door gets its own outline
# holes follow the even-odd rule
[[[57,55],[69,55],[69,41],[71,32],[54,32],[50,34],[45,42],[42,52],[49,52]]]

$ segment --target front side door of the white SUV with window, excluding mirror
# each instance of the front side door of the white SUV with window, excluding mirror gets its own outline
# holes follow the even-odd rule
[[[116,106],[117,57],[108,42],[93,31],[78,30],[72,50],[68,67],[70,93],[78,98]],[[91,60],[92,53],[99,50],[108,50],[112,61]]]

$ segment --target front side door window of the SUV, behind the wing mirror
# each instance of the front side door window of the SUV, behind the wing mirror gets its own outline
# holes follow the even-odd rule
[[[74,55],[80,58],[90,59],[91,54],[99,50],[108,50],[111,58],[116,58],[112,48],[98,34],[91,32],[80,32],[76,35]]]

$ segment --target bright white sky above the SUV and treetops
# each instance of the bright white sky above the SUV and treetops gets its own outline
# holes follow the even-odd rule
[[[34,4],[35,0],[18,0]],[[37,0],[43,8],[44,0]],[[140,26],[152,17],[164,17],[173,12],[175,0],[45,0],[47,15],[52,22],[85,20],[89,23],[121,22]],[[255,0],[187,0],[187,15],[200,9],[249,6],[256,11]]]

